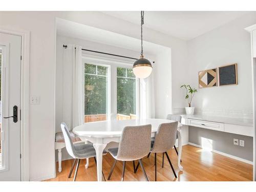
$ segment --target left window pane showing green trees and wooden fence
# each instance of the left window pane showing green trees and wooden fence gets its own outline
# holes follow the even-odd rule
[[[90,66],[94,66],[96,69],[95,65]],[[94,67],[90,68],[94,69]],[[107,75],[108,67],[104,68],[106,68],[105,74]],[[84,81],[84,122],[106,120],[108,106],[108,76],[85,74]]]

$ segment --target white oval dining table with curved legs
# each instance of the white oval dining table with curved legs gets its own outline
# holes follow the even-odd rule
[[[168,119],[130,119],[130,120],[109,120],[89,122],[76,126],[73,129],[82,141],[92,142],[96,151],[97,159],[97,178],[98,181],[102,180],[102,153],[106,145],[112,141],[119,142],[122,134],[122,130],[125,126],[137,126],[137,125],[152,125],[152,137],[154,137],[157,129],[161,123],[174,122]],[[181,152],[182,152],[182,140],[180,127],[181,123],[178,123],[178,166],[182,171],[183,167],[180,164]]]

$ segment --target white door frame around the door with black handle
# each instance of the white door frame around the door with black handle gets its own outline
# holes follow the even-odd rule
[[[0,26],[0,33],[22,37],[20,71],[20,180],[29,181],[29,58],[30,31]]]

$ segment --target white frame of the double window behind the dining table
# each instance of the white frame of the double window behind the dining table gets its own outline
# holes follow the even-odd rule
[[[126,61],[112,57],[96,56],[82,53],[82,62],[91,63],[93,65],[109,67],[108,83],[108,113],[107,120],[115,120],[117,117],[117,68],[133,68],[133,60]],[[84,96],[83,96],[84,98]],[[84,103],[83,103],[84,106]],[[83,110],[84,111],[84,110]],[[136,78],[136,118],[140,117],[140,79]]]

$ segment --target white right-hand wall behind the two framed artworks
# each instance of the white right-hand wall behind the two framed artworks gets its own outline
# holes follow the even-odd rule
[[[189,83],[198,88],[198,72],[238,63],[238,85],[198,89],[193,106],[205,114],[252,118],[250,34],[245,27],[256,23],[256,13],[187,42]]]

